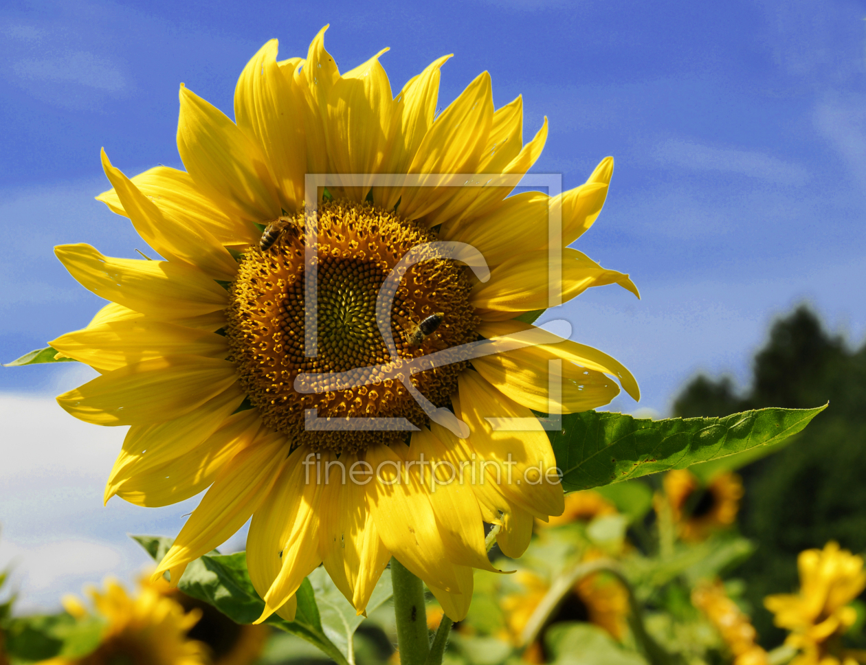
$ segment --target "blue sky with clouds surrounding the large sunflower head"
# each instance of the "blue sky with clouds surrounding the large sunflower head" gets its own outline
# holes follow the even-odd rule
[[[533,171],[562,173],[565,187],[616,158],[608,202],[577,247],[630,273],[643,300],[603,287],[548,315],[635,373],[643,399],[611,409],[663,416],[695,371],[746,381],[769,323],[802,301],[859,345],[864,17],[864,3],[837,0],[3,3],[0,359],[99,307],[53,245],[144,249],[93,199],[107,189],[100,146],[128,174],[179,167],[181,81],[231,115],[237,74],[262,43],[304,55],[325,23],[344,71],[390,46],[395,90],[454,53],[443,107],[488,69],[497,106],[523,94],[525,139],[548,117]],[[29,604],[139,566],[122,533],[176,533],[191,510],[101,507],[123,432],[74,422],[49,399],[86,377],[72,364],[0,371],[0,563],[18,557]],[[58,544],[81,565],[46,577],[36,564],[57,566]]]

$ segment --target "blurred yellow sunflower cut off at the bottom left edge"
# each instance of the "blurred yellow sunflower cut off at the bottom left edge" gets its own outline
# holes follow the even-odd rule
[[[105,591],[92,587],[89,596],[96,614],[107,622],[99,646],[79,658],[58,656],[45,665],[204,665],[209,663],[207,647],[187,638],[187,632],[201,617],[200,610],[184,612],[171,598],[155,589],[142,587],[132,598],[117,581],[105,581]],[[73,617],[87,616],[84,604],[74,596],[63,597],[63,607]]]

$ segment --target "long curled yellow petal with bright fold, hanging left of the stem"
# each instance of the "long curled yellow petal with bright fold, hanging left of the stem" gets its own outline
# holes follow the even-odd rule
[[[290,602],[303,579],[320,564],[318,508],[323,486],[316,481],[315,461],[307,446],[294,449],[249,524],[249,578],[266,604],[259,622]]]

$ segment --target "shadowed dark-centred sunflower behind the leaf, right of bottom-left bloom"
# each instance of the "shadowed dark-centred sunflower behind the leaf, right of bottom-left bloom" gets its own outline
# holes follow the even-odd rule
[[[265,642],[271,634],[267,626],[235,623],[213,605],[172,587],[165,578],[147,576],[139,583],[171,598],[187,612],[195,610],[199,614],[201,618],[187,635],[207,645],[211,665],[251,665],[262,655]]]

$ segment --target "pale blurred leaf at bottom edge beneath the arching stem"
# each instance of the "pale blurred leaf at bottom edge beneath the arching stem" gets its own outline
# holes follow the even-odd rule
[[[641,655],[626,651],[591,623],[556,623],[545,643],[554,665],[646,665]]]

